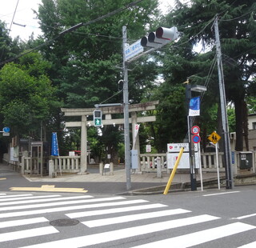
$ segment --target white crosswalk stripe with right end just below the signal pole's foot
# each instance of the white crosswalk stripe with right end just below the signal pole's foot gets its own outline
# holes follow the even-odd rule
[[[86,197],[88,198],[88,197]],[[32,208],[46,207],[46,206],[59,206],[59,205],[74,205],[90,202],[109,202],[115,200],[123,200],[123,197],[113,197],[113,198],[94,198],[89,200],[77,200],[77,201],[66,201],[66,202],[50,202],[50,203],[41,203],[41,204],[31,204],[31,205],[21,205],[21,206],[5,206],[0,207],[0,211],[10,211],[10,210],[26,210]],[[29,203],[29,202],[28,202]]]

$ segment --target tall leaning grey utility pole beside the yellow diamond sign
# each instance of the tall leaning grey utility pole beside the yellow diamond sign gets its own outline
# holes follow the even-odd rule
[[[218,86],[219,86],[219,97],[222,110],[222,130],[223,130],[223,140],[224,140],[224,157],[225,157],[225,170],[226,170],[226,189],[234,189],[234,179],[231,164],[231,149],[230,149],[230,132],[228,126],[228,119],[226,114],[226,93],[224,84],[224,75],[222,67],[222,51],[221,42],[219,39],[218,31],[218,16],[216,16],[214,21],[214,32],[215,32],[215,44],[218,62]]]

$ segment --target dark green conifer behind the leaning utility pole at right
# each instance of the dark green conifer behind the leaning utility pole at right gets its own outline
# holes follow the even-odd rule
[[[164,61],[164,66],[170,68],[169,74],[194,75],[195,83],[202,82],[203,77],[208,76],[206,72],[209,72],[210,66],[208,62],[198,60],[198,54],[194,52],[193,48],[198,42],[202,42],[204,46],[210,49],[207,52],[208,57],[214,58],[211,55],[215,53],[214,31],[211,30],[211,26],[216,14],[218,14],[226,100],[234,103],[237,133],[236,150],[243,150],[243,132],[246,131],[245,98],[247,94],[250,94],[248,90],[254,84],[252,79],[256,73],[256,52],[254,50],[256,46],[254,14],[256,3],[251,0],[239,2],[232,0],[210,2],[192,0],[189,4],[182,4],[179,1],[176,3],[175,9],[166,16],[166,22],[169,26],[178,26],[178,30],[182,31],[184,36],[179,43],[178,54],[172,50],[174,55]],[[182,57],[186,62],[174,65],[175,56]],[[185,70],[186,67],[190,69]],[[194,68],[194,72],[191,70],[192,68]],[[187,74],[187,71],[190,71],[191,74]],[[217,85],[217,77],[215,78],[214,82]],[[215,96],[218,95],[216,86],[210,85],[210,89]],[[214,99],[216,98],[214,97]]]

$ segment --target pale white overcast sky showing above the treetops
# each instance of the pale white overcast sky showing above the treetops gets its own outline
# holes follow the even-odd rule
[[[168,6],[174,4],[174,0],[158,1],[161,2],[161,10],[163,12]],[[23,41],[26,41],[32,32],[34,32],[35,38],[40,34],[38,20],[32,10],[37,11],[39,3],[41,3],[41,0],[0,0],[0,19],[6,22],[8,29],[10,28],[10,36],[12,38],[19,36]],[[16,6],[17,10],[14,14]],[[10,27],[13,17],[14,21]]]

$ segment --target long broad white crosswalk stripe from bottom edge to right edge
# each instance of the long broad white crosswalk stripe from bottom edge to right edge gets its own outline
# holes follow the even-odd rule
[[[218,238],[224,238],[230,235],[239,234],[247,230],[252,230],[256,226],[251,226],[241,222],[232,223],[226,226],[219,226],[208,230],[198,231],[192,234],[186,234],[174,238],[167,238],[157,242],[147,243],[133,248],[186,248],[210,242]],[[255,247],[255,246],[254,246]]]

